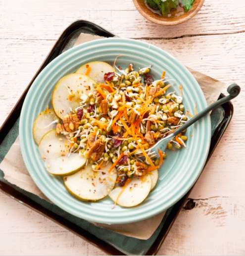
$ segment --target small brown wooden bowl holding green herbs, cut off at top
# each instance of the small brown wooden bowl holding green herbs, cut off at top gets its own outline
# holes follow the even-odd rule
[[[145,0],[133,0],[135,7],[138,11],[148,20],[165,26],[177,25],[181,24],[193,16],[200,10],[204,0],[195,0],[192,8],[185,12],[182,7],[178,7],[178,9],[172,9],[170,17],[162,16],[157,12],[152,11],[148,6]]]

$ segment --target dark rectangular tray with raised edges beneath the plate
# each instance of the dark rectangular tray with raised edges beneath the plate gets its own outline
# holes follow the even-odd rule
[[[63,51],[73,47],[74,42],[80,33],[87,33],[91,35],[98,35],[102,37],[114,37],[115,35],[100,26],[85,20],[77,20],[72,23],[59,37],[52,50],[49,52],[46,60],[28,85],[27,89],[9,114],[8,118],[0,128],[0,161],[7,153],[5,149],[5,139],[9,137],[16,138],[18,136],[18,119],[22,104],[24,102],[27,91],[36,79],[42,69],[55,57]],[[223,98],[221,94],[219,98]],[[233,115],[233,105],[231,102],[224,103],[217,109],[211,112],[211,127],[212,137],[207,161],[212,155],[214,149],[219,143],[223,133],[225,132]],[[12,136],[14,135],[14,136]],[[8,140],[9,141],[9,140]],[[14,142],[14,139],[12,140]],[[206,161],[206,163],[207,163]],[[53,221],[59,223],[63,227],[74,232],[84,240],[92,243],[101,250],[111,255],[155,255],[166,238],[174,220],[176,219],[180,210],[191,209],[195,206],[193,200],[188,196],[191,190],[175,205],[166,211],[166,214],[157,228],[155,233],[148,240],[140,240],[136,238],[129,238],[119,235],[112,231],[95,227],[89,222],[72,216],[57,206],[53,206],[37,196],[28,193],[15,185],[10,184],[4,179],[4,173],[0,170],[0,190],[3,193],[13,197],[14,199],[23,202],[26,206],[38,211],[41,214],[49,217]]]

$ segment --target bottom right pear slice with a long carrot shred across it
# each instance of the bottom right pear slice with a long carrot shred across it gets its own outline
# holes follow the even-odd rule
[[[151,178],[149,175],[144,177],[134,177],[129,184],[124,187],[116,187],[109,197],[120,206],[133,207],[141,204],[148,196],[151,189]]]

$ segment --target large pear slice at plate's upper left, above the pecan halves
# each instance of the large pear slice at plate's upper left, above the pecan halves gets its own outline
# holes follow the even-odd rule
[[[51,103],[55,114],[62,119],[71,109],[80,106],[86,95],[94,92],[96,81],[84,74],[72,73],[61,78],[55,85]],[[83,91],[84,99],[80,99]]]

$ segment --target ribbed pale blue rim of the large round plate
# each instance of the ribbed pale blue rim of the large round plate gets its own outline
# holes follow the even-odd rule
[[[83,61],[85,61],[84,58],[86,57],[86,55],[87,55],[87,58],[90,58],[91,54],[92,54],[91,55],[92,57],[96,57],[96,55],[94,55],[95,53],[91,50],[96,49],[96,51],[99,50],[99,52],[104,51],[104,47],[103,47],[102,43],[105,43],[105,42],[106,42],[107,47],[113,45],[113,48],[110,50],[110,54],[112,54],[112,55],[113,54],[118,55],[118,44],[122,44],[122,47],[123,47],[122,49],[126,50],[126,49],[128,49],[129,43],[130,43],[131,47],[136,48],[137,50],[142,51],[145,49],[147,51],[156,51],[154,57],[157,57],[157,61],[160,61],[158,59],[158,53],[161,52],[163,54],[163,57],[166,55],[165,57],[169,60],[168,64],[171,64],[171,63],[174,64],[176,62],[176,64],[178,64],[178,66],[177,66],[178,69],[184,68],[184,71],[186,71],[185,73],[183,73],[183,76],[186,77],[187,81],[189,81],[189,79],[190,80],[194,79],[193,83],[197,85],[197,82],[196,82],[195,78],[193,77],[193,75],[191,75],[191,72],[188,71],[188,69],[186,69],[184,67],[184,65],[179,60],[177,60],[170,53],[168,53],[156,46],[153,46],[148,43],[141,42],[141,41],[138,41],[138,43],[135,45],[135,42],[137,42],[137,40],[125,39],[125,38],[106,38],[106,39],[98,39],[98,40],[95,40],[92,42],[87,42],[82,45],[76,46],[68,51],[65,51],[62,55],[59,55],[58,57],[56,57],[52,61],[51,64],[49,64],[46,68],[44,68],[42,70],[42,72],[40,73],[38,78],[34,81],[30,90],[28,91],[28,94],[26,96],[26,99],[25,99],[23,107],[22,107],[22,111],[21,111],[21,115],[20,115],[19,136],[20,136],[21,152],[23,155],[24,162],[27,166],[28,172],[30,173],[30,176],[33,178],[33,180],[35,181],[36,185],[49,198],[50,201],[52,201],[55,205],[61,207],[65,211],[67,211],[77,217],[86,219],[88,221],[94,221],[94,222],[98,222],[98,223],[107,223],[107,224],[108,223],[122,224],[122,223],[130,223],[130,222],[147,219],[153,215],[156,215],[157,213],[160,213],[161,211],[163,211],[166,208],[169,208],[171,205],[175,204],[182,196],[184,196],[184,194],[187,191],[189,191],[189,189],[196,182],[196,179],[199,177],[199,174],[200,174],[200,172],[205,164],[205,161],[206,161],[206,157],[207,157],[209,146],[210,146],[211,123],[210,123],[210,117],[208,117],[208,116],[205,117],[205,120],[207,120],[205,127],[208,129],[204,129],[204,127],[203,127],[204,120],[201,121],[201,125],[203,128],[202,131],[204,131],[206,133],[206,135],[208,137],[208,142],[207,142],[206,138],[203,138],[203,137],[201,138],[201,143],[203,143],[205,145],[205,147],[203,146],[203,153],[198,153],[198,154],[202,154],[202,155],[204,154],[204,156],[201,157],[201,161],[196,162],[196,164],[198,164],[198,173],[197,172],[195,172],[195,174],[192,172],[188,173],[187,176],[184,177],[185,184],[181,184],[181,186],[178,186],[177,188],[175,188],[175,191],[174,191],[175,193],[173,194],[173,196],[169,197],[166,200],[165,204],[161,201],[155,202],[153,200],[154,202],[149,201],[148,203],[146,203],[146,204],[148,204],[146,206],[139,205],[139,207],[138,206],[132,207],[132,208],[129,208],[129,210],[121,209],[121,207],[119,207],[120,208],[120,211],[119,211],[116,209],[117,207],[115,207],[113,210],[113,211],[115,211],[114,215],[111,215],[111,213],[112,213],[110,211],[111,208],[107,207],[108,206],[108,204],[106,205],[107,202],[102,202],[103,205],[106,205],[106,209],[105,209],[106,211],[104,212],[103,216],[100,216],[96,213],[99,209],[101,209],[101,206],[97,205],[96,203],[93,204],[93,206],[92,205],[90,206],[87,204],[86,204],[86,207],[79,206],[79,205],[83,204],[83,202],[80,202],[77,199],[72,198],[72,196],[70,196],[70,195],[68,196],[68,193],[64,192],[64,190],[65,190],[64,187],[61,186],[61,184],[58,183],[58,181],[55,181],[53,178],[51,178],[50,181],[46,179],[49,177],[49,175],[47,174],[47,171],[42,167],[43,162],[42,162],[41,156],[39,155],[37,158],[34,157],[35,154],[37,154],[37,147],[36,147],[36,145],[34,145],[34,142],[32,140],[30,124],[35,119],[34,118],[35,111],[39,110],[39,108],[42,108],[41,104],[39,105],[36,102],[36,99],[38,99],[39,101],[41,101],[41,100],[44,101],[44,99],[40,96],[41,95],[40,93],[45,91],[45,94],[47,95],[49,93],[49,91],[46,92],[46,90],[52,89],[52,88],[49,88],[50,87],[49,82],[50,81],[53,82],[54,80],[56,80],[57,77],[63,76],[64,74],[62,72],[64,72],[64,71],[61,72],[61,70],[64,69],[65,72],[66,71],[68,72],[69,70],[67,70],[67,69],[74,68],[74,65],[77,65],[77,60],[79,60],[79,63],[80,63],[81,58],[83,58]],[[90,50],[90,51],[86,51],[86,50]],[[81,56],[80,56],[80,54],[77,55],[78,52],[80,52],[82,55]],[[129,54],[131,54],[131,53],[132,53],[132,49],[128,50],[127,55],[129,56]],[[98,54],[98,52],[97,52],[97,54]],[[107,53],[107,55],[108,55],[108,53]],[[100,56],[100,57],[102,58],[103,56]],[[111,55],[109,55],[109,57],[111,58]],[[142,56],[139,55],[138,53],[136,54],[137,59],[141,58],[141,57]],[[67,60],[68,60],[68,62],[67,62]],[[60,64],[62,64],[62,65],[60,66]],[[57,72],[56,68],[58,68],[59,72]],[[54,74],[52,74],[53,71],[55,71]],[[181,71],[181,74],[182,74],[182,71]],[[181,79],[184,79],[184,77]],[[42,82],[42,83],[40,84],[40,82]],[[194,84],[193,84],[193,89],[195,88]],[[45,85],[45,86],[43,86],[43,85]],[[198,96],[199,90],[201,90],[201,89],[199,88],[196,90],[197,90],[196,94]],[[204,97],[204,95],[200,95],[200,98],[203,98],[203,97]],[[49,99],[47,98],[47,100],[49,100]],[[193,99],[193,101],[194,101],[194,99]],[[36,102],[35,109],[30,107],[30,105],[34,104],[34,102]],[[195,103],[195,102],[193,102],[193,103]],[[44,102],[43,105],[45,106],[46,102]],[[207,105],[206,101],[201,101],[201,105],[203,107],[205,107]],[[200,134],[199,129],[197,129],[196,132],[198,132],[198,134]],[[197,144],[195,144],[195,149],[197,147],[196,145]],[[187,165],[188,165],[187,167],[189,167],[189,163],[187,163]],[[43,171],[44,171],[44,174],[42,173]],[[41,175],[41,177],[40,177],[40,175]],[[175,181],[171,180],[171,184],[173,182],[175,182]],[[48,186],[47,184],[53,185],[53,186]],[[166,187],[167,190],[169,189],[169,187],[171,187],[171,184],[168,184],[168,187]],[[42,188],[45,189],[45,191],[43,191]],[[183,188],[185,188],[185,189],[183,189]],[[171,188],[171,190],[172,190],[172,188]],[[157,190],[155,190],[155,192],[160,193],[160,192],[157,192]],[[65,198],[63,198],[63,196],[65,196]],[[75,201],[75,203],[74,203],[74,201]],[[154,203],[154,205],[152,205],[153,203]],[[111,202],[110,202],[110,204],[111,204]],[[166,207],[166,208],[164,208],[164,207]]]

